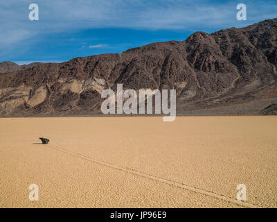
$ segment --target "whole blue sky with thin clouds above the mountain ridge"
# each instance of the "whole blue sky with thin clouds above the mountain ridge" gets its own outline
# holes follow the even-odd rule
[[[275,1],[0,0],[0,62],[62,62],[277,17]],[[30,3],[39,21],[30,21]],[[236,6],[247,6],[247,21]]]

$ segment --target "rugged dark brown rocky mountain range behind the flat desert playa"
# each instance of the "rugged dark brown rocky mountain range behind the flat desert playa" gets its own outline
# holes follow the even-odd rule
[[[177,114],[276,114],[277,19],[123,53],[0,63],[0,116],[101,114],[103,89],[176,89]]]

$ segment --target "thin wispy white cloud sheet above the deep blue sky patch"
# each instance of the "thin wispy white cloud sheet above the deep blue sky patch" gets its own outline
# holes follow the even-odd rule
[[[248,9],[246,22],[235,19],[235,6],[240,1],[233,0],[37,0],[39,21],[30,21],[30,3],[33,0],[1,1],[2,54],[18,45],[30,47],[48,33],[76,32],[89,28],[205,31],[246,26],[277,17],[276,0],[244,0]],[[92,48],[100,46],[94,45]]]

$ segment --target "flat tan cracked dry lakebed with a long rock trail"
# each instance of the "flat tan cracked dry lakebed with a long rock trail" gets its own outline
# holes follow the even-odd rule
[[[2,118],[0,126],[0,207],[277,207],[277,117]],[[239,184],[246,201],[236,200]]]

